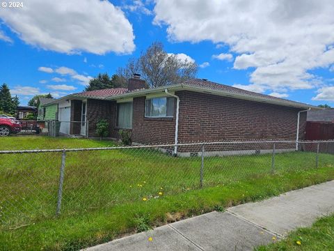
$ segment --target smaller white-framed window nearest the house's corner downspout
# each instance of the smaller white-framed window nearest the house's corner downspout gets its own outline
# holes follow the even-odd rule
[[[173,117],[174,98],[150,98],[145,103],[145,117]]]

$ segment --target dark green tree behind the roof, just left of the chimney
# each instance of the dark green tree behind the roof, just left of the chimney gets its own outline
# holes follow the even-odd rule
[[[118,75],[112,75],[109,77],[108,73],[97,75],[97,77],[90,79],[85,91],[95,91],[102,89],[111,89],[125,86],[125,83],[121,81]]]

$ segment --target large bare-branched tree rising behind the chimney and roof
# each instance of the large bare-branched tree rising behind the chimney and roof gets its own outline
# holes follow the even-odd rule
[[[168,54],[162,43],[155,42],[138,59],[129,59],[125,67],[118,68],[117,73],[122,81],[139,73],[154,88],[184,82],[196,77],[197,71],[196,63]]]

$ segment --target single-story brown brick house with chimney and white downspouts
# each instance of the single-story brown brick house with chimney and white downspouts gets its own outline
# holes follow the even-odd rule
[[[154,89],[145,86],[140,75],[135,75],[127,89],[74,93],[51,102],[58,104],[59,121],[81,121],[62,123],[61,132],[98,137],[96,123],[105,119],[109,137],[117,139],[119,130],[131,130],[136,144],[301,140],[306,111],[319,109],[207,79]]]

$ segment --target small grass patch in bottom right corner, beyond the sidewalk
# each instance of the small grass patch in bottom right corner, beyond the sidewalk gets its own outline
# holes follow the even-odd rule
[[[297,241],[300,243],[297,244]],[[334,215],[320,218],[312,227],[292,231],[287,238],[277,243],[256,248],[257,251],[289,250],[334,250]]]

